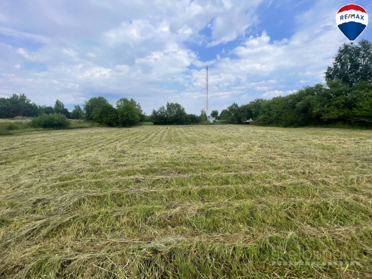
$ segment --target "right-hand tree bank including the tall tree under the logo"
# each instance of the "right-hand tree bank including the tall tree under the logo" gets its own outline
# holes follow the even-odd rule
[[[372,44],[343,44],[324,73],[326,84],[306,86],[294,94],[270,100],[231,104],[219,119],[231,124],[252,119],[256,124],[299,127],[308,125],[372,125]]]

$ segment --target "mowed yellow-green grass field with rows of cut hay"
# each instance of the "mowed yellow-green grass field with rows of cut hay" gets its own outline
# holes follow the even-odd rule
[[[2,278],[372,274],[372,131],[11,135],[0,172]]]

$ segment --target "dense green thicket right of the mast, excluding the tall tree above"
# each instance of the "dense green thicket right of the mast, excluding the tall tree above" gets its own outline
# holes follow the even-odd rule
[[[233,103],[221,111],[220,119],[242,124],[252,119],[256,124],[283,127],[350,124],[372,125],[372,84],[359,81],[353,86],[340,80],[328,81],[298,90],[295,94],[270,100],[256,99],[238,106]]]

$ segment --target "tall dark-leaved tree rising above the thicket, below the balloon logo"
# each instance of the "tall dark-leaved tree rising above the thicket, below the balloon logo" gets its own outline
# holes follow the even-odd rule
[[[363,39],[356,45],[342,44],[324,74],[325,81],[339,79],[349,86],[372,81],[372,43]]]

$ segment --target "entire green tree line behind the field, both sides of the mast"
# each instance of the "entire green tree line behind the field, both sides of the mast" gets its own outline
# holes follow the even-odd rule
[[[336,123],[372,125],[372,44],[368,40],[361,40],[358,45],[343,44],[333,60],[333,66],[324,73],[326,84],[306,86],[294,94],[270,100],[256,99],[241,106],[233,103],[220,114],[213,110],[211,116],[231,124],[252,119],[256,124],[284,127]],[[72,112],[59,100],[52,107],[37,106],[24,94],[0,98],[0,118],[55,113],[106,126],[134,126],[141,122],[191,125],[205,122],[207,117],[203,110],[200,115],[188,114],[182,105],[169,102],[148,116],[132,98],[121,98],[114,107],[104,97],[92,97],[83,106],[76,105]]]

